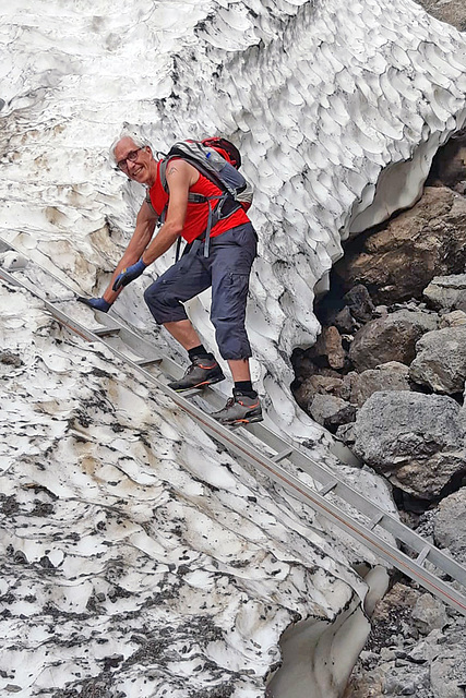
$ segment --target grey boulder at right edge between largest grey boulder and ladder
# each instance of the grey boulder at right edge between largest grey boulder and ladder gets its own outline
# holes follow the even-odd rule
[[[442,500],[433,518],[433,538],[440,547],[466,565],[466,488]]]

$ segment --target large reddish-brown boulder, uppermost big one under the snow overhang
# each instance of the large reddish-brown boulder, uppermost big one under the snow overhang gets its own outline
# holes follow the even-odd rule
[[[334,267],[344,290],[363,284],[375,303],[419,298],[434,276],[466,263],[466,198],[427,186],[418,203],[347,246]]]

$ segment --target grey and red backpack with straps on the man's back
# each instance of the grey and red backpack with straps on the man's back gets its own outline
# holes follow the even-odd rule
[[[208,256],[211,230],[215,224],[231,216],[240,207],[248,210],[252,203],[252,186],[238,171],[241,167],[241,154],[232,143],[220,137],[175,143],[160,163],[160,182],[166,192],[168,192],[167,165],[174,157],[181,158],[195,167],[201,174],[223,192],[217,196],[204,196],[191,192],[188,195],[190,203],[208,203],[207,227],[205,231],[200,233],[205,232],[204,256]],[[165,219],[164,214],[162,222]],[[176,262],[179,257],[180,245],[181,238],[177,243]]]

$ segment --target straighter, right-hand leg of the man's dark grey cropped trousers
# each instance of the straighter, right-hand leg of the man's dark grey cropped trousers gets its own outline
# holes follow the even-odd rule
[[[256,240],[251,225],[228,230],[211,241],[211,320],[220,356],[226,360],[252,356],[244,320],[255,254]]]

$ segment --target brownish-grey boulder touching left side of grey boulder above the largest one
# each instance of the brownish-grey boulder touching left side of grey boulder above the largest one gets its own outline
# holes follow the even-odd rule
[[[437,315],[420,311],[397,310],[377,317],[356,333],[349,359],[360,372],[390,361],[409,365],[418,339],[437,326]]]

